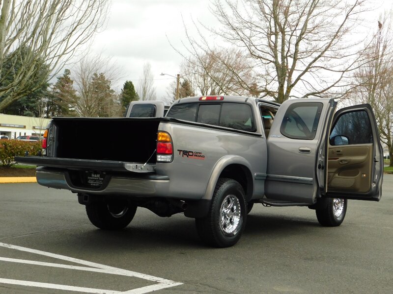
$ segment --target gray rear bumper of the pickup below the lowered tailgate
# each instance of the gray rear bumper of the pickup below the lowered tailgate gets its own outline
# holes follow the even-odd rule
[[[168,197],[169,177],[157,174],[139,174],[138,177],[126,175],[107,175],[99,188],[79,187],[72,182],[69,171],[38,167],[36,170],[38,184],[66,189],[75,193],[91,195],[123,195],[136,197]]]

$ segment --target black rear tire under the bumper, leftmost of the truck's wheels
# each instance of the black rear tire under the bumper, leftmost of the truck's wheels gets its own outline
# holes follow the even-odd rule
[[[137,206],[124,200],[94,201],[86,204],[90,222],[104,230],[125,228],[134,218]]]

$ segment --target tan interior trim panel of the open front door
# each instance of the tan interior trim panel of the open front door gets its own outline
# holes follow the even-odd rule
[[[371,183],[372,144],[365,146],[330,146],[328,156],[328,191],[366,193]]]

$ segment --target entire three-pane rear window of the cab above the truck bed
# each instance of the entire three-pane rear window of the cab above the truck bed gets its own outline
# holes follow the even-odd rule
[[[167,116],[237,130],[255,131],[253,111],[246,103],[182,103],[173,105]]]

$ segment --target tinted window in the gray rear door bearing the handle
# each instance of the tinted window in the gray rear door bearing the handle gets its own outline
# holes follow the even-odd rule
[[[281,134],[291,139],[315,138],[323,104],[300,102],[288,107],[281,123]]]

